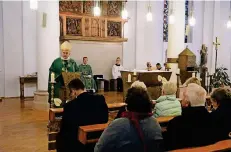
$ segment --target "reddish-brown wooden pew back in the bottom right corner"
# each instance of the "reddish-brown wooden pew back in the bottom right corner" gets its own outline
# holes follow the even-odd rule
[[[219,141],[215,144],[195,147],[195,148],[184,148],[173,150],[171,152],[215,152],[215,151],[231,151],[231,139]]]

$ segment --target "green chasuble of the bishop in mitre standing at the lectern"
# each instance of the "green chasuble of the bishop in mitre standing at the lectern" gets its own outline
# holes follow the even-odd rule
[[[54,98],[59,98],[59,90],[63,86],[62,72],[79,72],[79,68],[73,59],[63,60],[57,58],[53,61],[49,69],[49,81],[51,80],[51,73],[55,73],[55,87],[54,87]],[[49,102],[51,101],[51,85],[48,83]]]

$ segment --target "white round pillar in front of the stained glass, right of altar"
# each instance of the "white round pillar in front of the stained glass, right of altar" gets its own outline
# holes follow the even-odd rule
[[[171,3],[172,2],[172,3]],[[177,58],[181,51],[184,50],[184,35],[185,35],[185,0],[171,1],[173,8],[175,23],[168,25],[168,63],[171,67],[172,76],[170,81],[177,82],[176,71],[178,68]],[[170,12],[170,10],[169,10]]]

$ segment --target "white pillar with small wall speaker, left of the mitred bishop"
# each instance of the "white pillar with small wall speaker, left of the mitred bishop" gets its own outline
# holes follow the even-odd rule
[[[53,60],[59,57],[59,1],[38,1],[37,72],[38,88],[34,109],[48,110],[48,75]]]

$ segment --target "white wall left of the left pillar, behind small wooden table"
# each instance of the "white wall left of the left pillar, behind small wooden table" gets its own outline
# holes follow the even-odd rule
[[[36,72],[36,16],[30,10],[29,2],[1,3],[0,96],[15,97],[20,94],[19,76]],[[25,96],[32,96],[35,89],[35,85],[26,85]]]

